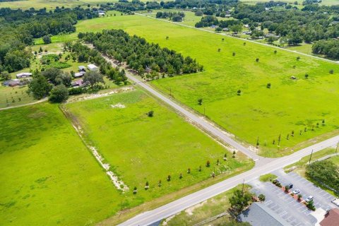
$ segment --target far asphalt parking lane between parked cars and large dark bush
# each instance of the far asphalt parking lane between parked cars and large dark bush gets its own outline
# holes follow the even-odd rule
[[[285,184],[292,183],[293,189],[299,189],[300,194],[302,194],[302,198],[307,198],[307,196],[314,196],[314,206],[316,208],[322,208],[323,210],[335,208],[331,201],[335,198],[328,192],[323,191],[323,189],[315,186],[313,183],[309,182],[304,177],[299,176],[299,174],[295,172],[290,172],[285,174],[285,172],[279,171],[275,172],[278,176],[278,180],[280,183],[285,186]]]

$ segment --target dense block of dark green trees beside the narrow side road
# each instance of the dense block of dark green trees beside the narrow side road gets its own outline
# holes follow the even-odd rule
[[[145,73],[152,73],[153,77],[159,76],[160,73],[175,76],[203,70],[203,66],[195,59],[183,57],[174,50],[161,48],[159,44],[149,43],[142,37],[130,36],[124,30],[79,33],[78,37],[94,44],[100,52],[113,57],[118,64],[126,61],[140,76]]]

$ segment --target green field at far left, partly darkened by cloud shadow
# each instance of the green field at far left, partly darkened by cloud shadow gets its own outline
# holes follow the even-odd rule
[[[121,194],[48,103],[0,112],[0,225],[94,225]]]

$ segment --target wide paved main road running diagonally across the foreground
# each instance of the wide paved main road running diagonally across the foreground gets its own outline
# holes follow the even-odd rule
[[[299,150],[292,155],[280,157],[273,160],[272,162],[268,162],[266,165],[255,167],[254,169],[239,174],[235,177],[225,179],[218,184],[209,186],[206,189],[202,189],[188,196],[184,196],[183,198],[179,198],[176,201],[166,204],[165,206],[161,206],[160,208],[155,208],[154,210],[141,213],[140,215],[137,215],[136,217],[121,223],[121,226],[150,225],[153,222],[168,218],[169,216],[179,213],[186,208],[201,203],[202,201],[206,201],[208,198],[212,198],[213,196],[217,196],[222,192],[230,190],[234,188],[234,186],[237,186],[237,184],[241,184],[243,181],[245,183],[251,182],[253,179],[256,179],[261,174],[273,172],[277,169],[281,169],[287,165],[290,165],[293,162],[297,162],[302,157],[310,155],[312,150],[314,153],[316,153],[319,150],[323,150],[323,148],[334,147],[338,143],[338,141],[339,135]]]

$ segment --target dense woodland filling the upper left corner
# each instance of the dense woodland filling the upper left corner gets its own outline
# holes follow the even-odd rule
[[[34,44],[34,38],[75,32],[78,20],[95,17],[96,11],[80,7],[54,11],[0,8],[0,72],[29,67],[32,54],[25,47]]]

